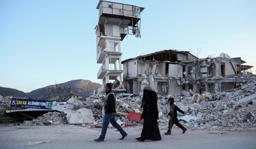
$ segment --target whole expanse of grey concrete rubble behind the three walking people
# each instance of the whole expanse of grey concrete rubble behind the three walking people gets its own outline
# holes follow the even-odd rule
[[[197,94],[191,96],[160,96],[157,101],[159,109],[159,127],[167,129],[169,104],[167,98],[172,96],[175,104],[186,115],[178,113],[181,124],[190,129],[228,129],[236,131],[246,127],[255,127],[256,81],[234,89],[231,92]],[[85,101],[70,99],[55,103],[60,112],[48,112],[29,125],[80,124],[82,126],[101,126],[105,94],[92,95]],[[140,107],[142,96],[121,93],[116,96],[117,121],[124,126],[139,125],[139,122],[127,119],[131,112],[142,113]],[[54,105],[54,104],[53,104]],[[27,121],[26,121],[27,122]],[[111,126],[110,126],[111,127]],[[176,126],[174,126],[176,127]]]

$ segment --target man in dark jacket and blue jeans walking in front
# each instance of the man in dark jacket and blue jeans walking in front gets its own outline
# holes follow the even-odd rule
[[[104,141],[106,136],[106,131],[108,129],[108,124],[112,124],[113,127],[115,127],[120,134],[122,134],[122,138],[124,139],[128,134],[125,133],[125,131],[122,129],[122,127],[117,124],[117,121],[115,120],[116,110],[115,110],[115,94],[111,91],[112,90],[112,84],[107,83],[105,87],[106,91],[106,98],[104,101],[104,118],[103,118],[103,127],[101,129],[101,136],[99,138],[94,139],[96,142]]]

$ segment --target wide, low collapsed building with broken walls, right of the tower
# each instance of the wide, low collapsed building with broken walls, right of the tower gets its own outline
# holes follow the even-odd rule
[[[142,94],[150,86],[157,94],[191,96],[217,93],[243,86],[255,79],[253,66],[225,53],[214,58],[197,58],[189,51],[164,50],[124,60],[124,86],[128,93]]]

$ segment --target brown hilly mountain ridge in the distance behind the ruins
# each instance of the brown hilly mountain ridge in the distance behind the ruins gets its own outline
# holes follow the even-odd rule
[[[24,93],[23,91],[18,91],[17,89],[11,89],[7,87],[0,87],[0,95],[20,98],[30,97],[32,99],[47,100],[53,96],[61,96],[61,98],[64,98],[64,96],[69,96],[70,94],[78,96],[89,96],[90,93],[93,93],[94,90],[97,90],[99,86],[101,86],[99,83],[78,79],[35,89],[30,93]]]

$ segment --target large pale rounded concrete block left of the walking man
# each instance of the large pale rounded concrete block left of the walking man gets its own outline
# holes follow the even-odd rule
[[[72,113],[69,124],[85,124],[94,122],[94,115],[92,110],[87,108],[80,108],[76,113]]]

